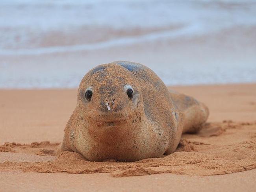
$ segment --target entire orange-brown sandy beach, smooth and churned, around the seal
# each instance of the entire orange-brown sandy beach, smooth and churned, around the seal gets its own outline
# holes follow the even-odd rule
[[[0,90],[0,190],[254,191],[256,84],[170,89],[206,103],[208,123],[175,153],[138,162],[55,155],[76,90]]]

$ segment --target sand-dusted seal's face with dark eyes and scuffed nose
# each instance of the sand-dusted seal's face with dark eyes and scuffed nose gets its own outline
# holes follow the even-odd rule
[[[97,66],[80,83],[77,107],[84,126],[93,132],[95,127],[131,126],[141,118],[137,79],[120,65]]]

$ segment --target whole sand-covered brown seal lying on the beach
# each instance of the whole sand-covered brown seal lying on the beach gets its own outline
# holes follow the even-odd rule
[[[128,61],[96,66],[83,77],[62,151],[89,161],[138,161],[173,153],[182,133],[195,133],[208,108],[169,92],[148,67]]]

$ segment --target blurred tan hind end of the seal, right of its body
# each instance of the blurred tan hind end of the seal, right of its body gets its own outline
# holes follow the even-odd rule
[[[182,133],[196,133],[202,128],[209,116],[209,110],[204,103],[198,102],[195,98],[170,92],[176,110],[184,113],[184,124]]]

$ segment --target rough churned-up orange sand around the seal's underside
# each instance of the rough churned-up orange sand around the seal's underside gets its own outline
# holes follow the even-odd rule
[[[54,155],[59,144],[33,142],[6,143],[1,151]],[[38,149],[40,148],[40,149]],[[127,177],[160,173],[221,175],[256,168],[256,123],[223,121],[208,123],[196,135],[185,134],[175,153],[163,158],[137,162],[90,162],[78,153],[65,151],[51,162],[4,162],[0,171],[69,174],[111,173]]]

